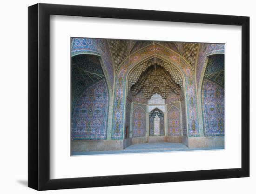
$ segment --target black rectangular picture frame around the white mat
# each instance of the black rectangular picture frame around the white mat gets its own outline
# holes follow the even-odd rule
[[[242,167],[51,180],[50,15],[242,26]],[[28,187],[52,190],[236,177],[249,177],[249,17],[41,3],[28,7]]]

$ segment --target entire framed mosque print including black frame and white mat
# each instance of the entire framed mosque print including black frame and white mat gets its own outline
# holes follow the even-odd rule
[[[249,17],[28,7],[28,186],[249,176]]]

